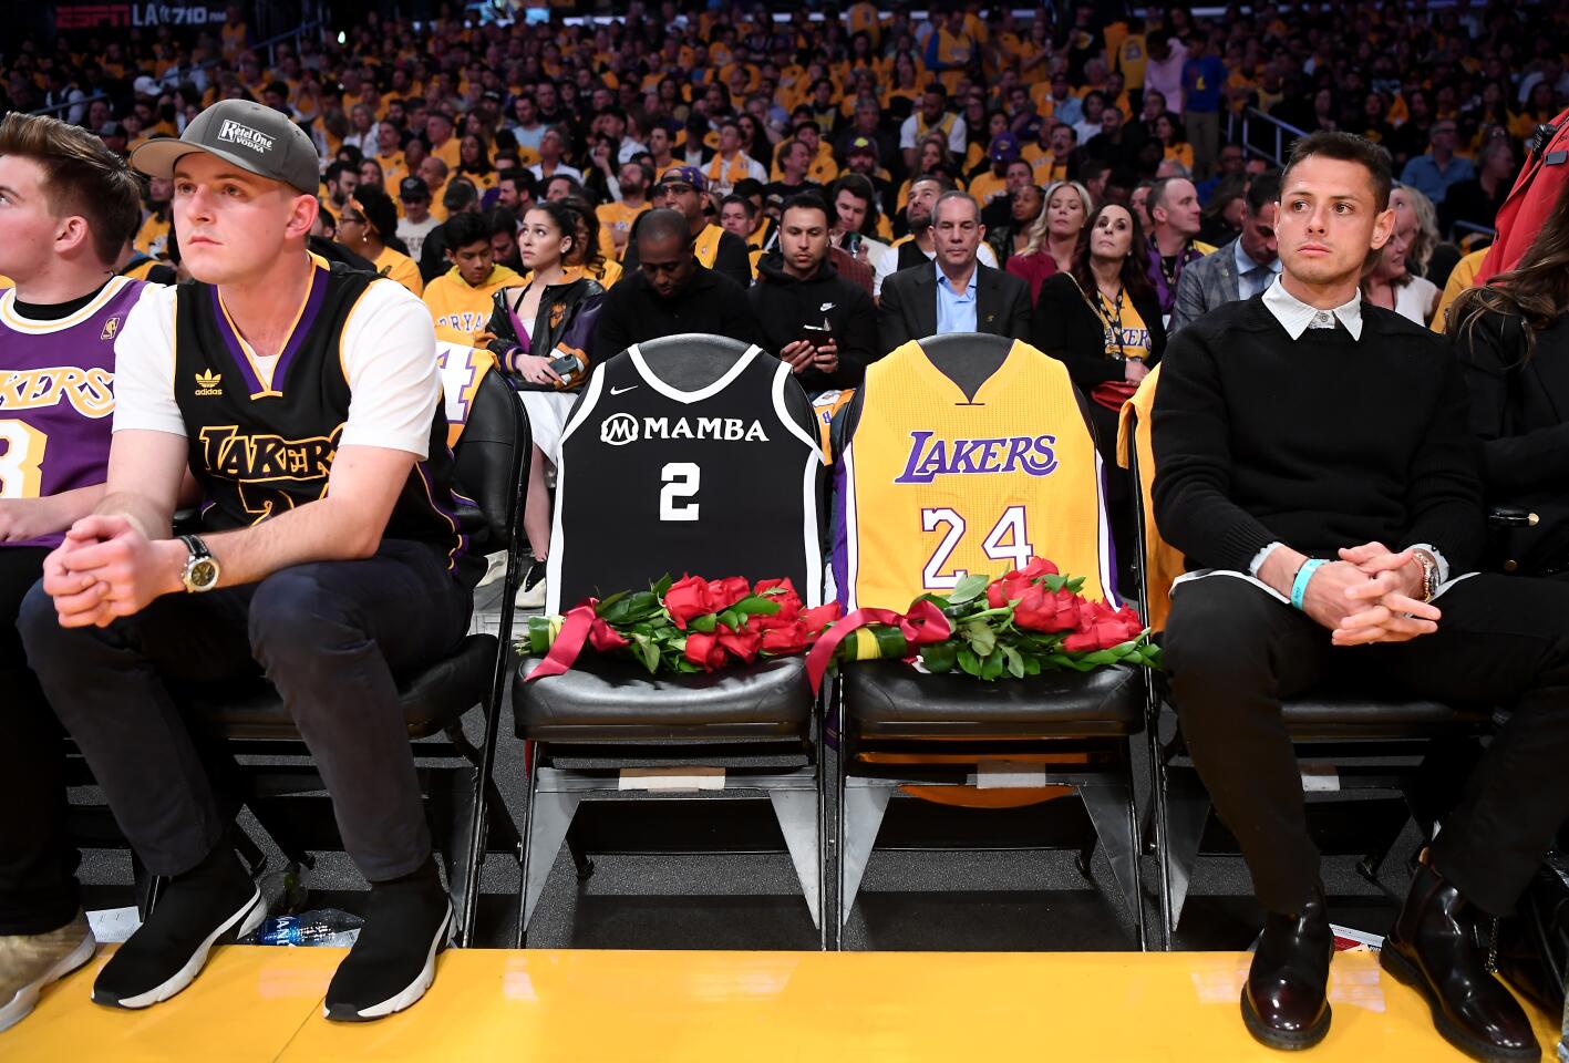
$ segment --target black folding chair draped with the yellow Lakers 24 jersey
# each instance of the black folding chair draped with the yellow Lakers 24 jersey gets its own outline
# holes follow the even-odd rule
[[[1001,360],[1012,342],[1006,336],[963,333],[932,336],[921,345],[929,355],[952,352]],[[1040,426],[1020,430],[1034,433]],[[1145,948],[1130,752],[1144,721],[1142,670],[1117,666],[984,683],[968,675],[929,675],[894,661],[844,666],[839,697],[830,708],[839,733],[835,941],[843,941],[844,922],[896,790],[974,785],[982,773],[993,766],[1009,769],[1012,762],[1014,771],[1028,774],[1028,782],[1015,785],[1078,791],[1131,911],[1139,948]],[[1042,754],[1043,763],[1017,763]],[[973,813],[993,815],[985,809]],[[949,838],[932,848],[1051,848],[1032,837],[1003,842],[981,821],[976,835],[974,845]],[[1079,871],[1086,878],[1092,848],[1094,840],[1081,849]]]

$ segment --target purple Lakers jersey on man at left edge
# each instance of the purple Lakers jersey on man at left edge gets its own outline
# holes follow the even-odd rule
[[[115,338],[141,289],[116,276],[82,309],[42,322],[16,311],[16,289],[0,295],[0,498],[46,498],[108,479]]]

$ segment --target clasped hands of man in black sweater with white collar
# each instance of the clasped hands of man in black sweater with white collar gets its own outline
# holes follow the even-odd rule
[[[1294,568],[1283,551],[1276,550],[1265,567],[1276,562],[1276,578],[1260,578],[1277,590],[1290,594]],[[1283,573],[1283,578],[1282,575]],[[1302,611],[1331,630],[1335,645],[1368,645],[1371,642],[1409,642],[1439,630],[1443,616],[1431,601],[1422,600],[1423,568],[1412,550],[1392,553],[1384,543],[1365,543],[1340,550],[1340,561],[1320,565],[1307,583]]]

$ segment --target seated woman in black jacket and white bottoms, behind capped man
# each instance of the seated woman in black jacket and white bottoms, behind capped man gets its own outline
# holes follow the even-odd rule
[[[588,378],[588,350],[604,287],[568,264],[579,237],[579,212],[565,203],[537,203],[522,218],[518,250],[530,272],[524,284],[493,297],[488,347],[519,386],[533,452],[522,531],[533,551],[518,605],[544,605],[544,562],[551,556],[551,495],[544,463],[555,463],[566,415]],[[598,254],[596,240],[587,240]]]

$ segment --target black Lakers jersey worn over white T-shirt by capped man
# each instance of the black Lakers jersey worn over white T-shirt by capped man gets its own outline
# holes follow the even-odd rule
[[[174,309],[174,397],[185,419],[190,468],[204,490],[201,524],[257,524],[326,493],[350,389],[339,347],[370,273],[312,256],[311,290],[271,380],[229,320],[218,289],[187,281]],[[395,281],[380,281],[383,284]],[[452,496],[446,415],[430,424],[430,457],[410,473],[386,539],[428,542],[455,565],[466,539]]]

